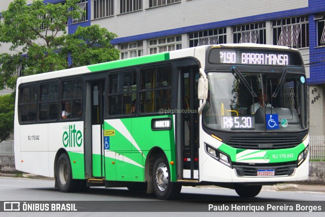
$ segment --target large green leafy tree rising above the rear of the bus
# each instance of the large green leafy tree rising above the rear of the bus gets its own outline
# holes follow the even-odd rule
[[[41,0],[26,5],[14,0],[0,22],[0,43],[10,45],[10,53],[0,54],[0,88],[15,88],[20,75],[69,69],[119,58],[110,41],[116,37],[98,25],[79,26],[67,35],[68,19],[80,19],[84,11],[79,0],[65,4],[44,4]],[[71,10],[71,9],[74,10]],[[73,64],[68,64],[71,55]]]

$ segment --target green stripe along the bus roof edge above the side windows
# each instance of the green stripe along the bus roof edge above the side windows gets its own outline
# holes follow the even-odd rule
[[[157,61],[169,60],[169,52],[157,53],[148,56],[139,56],[129,59],[121,59],[117,61],[111,61],[108,63],[96,64],[92,66],[87,66],[91,72],[98,72],[103,70],[117,69],[122,67],[136,66],[141,64],[154,63]]]

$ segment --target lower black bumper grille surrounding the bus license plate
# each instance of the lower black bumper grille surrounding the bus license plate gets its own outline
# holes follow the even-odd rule
[[[258,169],[274,169],[275,176],[292,175],[297,167],[297,162],[288,162],[280,164],[255,164],[248,165],[243,163],[232,163],[239,176],[256,176]]]

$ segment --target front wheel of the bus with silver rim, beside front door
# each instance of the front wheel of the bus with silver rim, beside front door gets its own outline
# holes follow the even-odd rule
[[[153,191],[160,200],[171,200],[179,195],[182,185],[170,181],[170,169],[164,154],[159,154],[152,171]]]

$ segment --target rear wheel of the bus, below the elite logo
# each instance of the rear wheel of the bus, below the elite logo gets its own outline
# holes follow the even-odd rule
[[[56,181],[61,192],[76,192],[80,189],[79,180],[72,179],[72,169],[67,153],[62,153],[56,163]]]

